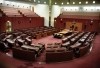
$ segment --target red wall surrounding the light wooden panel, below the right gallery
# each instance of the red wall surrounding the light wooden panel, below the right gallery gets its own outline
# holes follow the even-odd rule
[[[62,21],[61,21],[62,19]],[[90,25],[91,19],[75,19],[75,18],[55,18],[55,27],[57,28],[66,28],[64,25],[65,22],[80,22],[82,23],[82,31],[98,31],[100,20],[93,20],[93,25]],[[86,29],[85,25],[87,23]]]

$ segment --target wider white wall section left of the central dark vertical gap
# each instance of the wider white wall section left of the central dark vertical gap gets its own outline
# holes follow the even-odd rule
[[[34,12],[44,17],[44,26],[49,26],[49,6],[45,4],[33,5]]]

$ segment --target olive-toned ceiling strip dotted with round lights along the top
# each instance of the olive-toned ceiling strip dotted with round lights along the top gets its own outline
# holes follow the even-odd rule
[[[35,4],[48,4],[48,5],[97,5],[97,4],[100,4],[100,0],[5,0],[5,1],[18,1],[18,2],[25,2],[25,3],[27,2],[27,3],[35,3]],[[86,1],[88,2],[87,4],[86,4]],[[93,1],[95,1],[95,3],[93,3]]]

